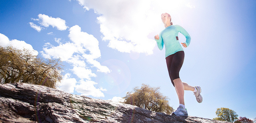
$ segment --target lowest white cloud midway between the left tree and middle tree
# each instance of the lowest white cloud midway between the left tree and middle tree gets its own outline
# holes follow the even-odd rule
[[[82,93],[81,95],[83,96],[94,96],[94,97],[104,97],[104,94],[102,91],[107,91],[106,89],[103,88],[95,88],[94,85],[98,83],[87,80],[87,81],[80,81],[79,85],[76,85],[76,92]]]

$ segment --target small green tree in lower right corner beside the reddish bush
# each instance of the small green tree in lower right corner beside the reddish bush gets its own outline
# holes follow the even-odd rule
[[[233,123],[238,119],[238,115],[236,114],[235,111],[224,107],[217,108],[216,115],[217,117],[214,118],[214,120],[218,121],[228,121]]]

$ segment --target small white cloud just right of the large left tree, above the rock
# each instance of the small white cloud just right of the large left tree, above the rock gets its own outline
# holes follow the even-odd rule
[[[68,92],[68,93],[73,93],[76,83],[77,82],[75,78],[70,78],[70,74],[65,74],[65,76],[60,82],[60,86],[58,90]]]

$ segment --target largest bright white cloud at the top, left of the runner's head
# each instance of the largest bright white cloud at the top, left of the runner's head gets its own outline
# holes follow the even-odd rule
[[[100,23],[100,31],[104,35],[103,40],[110,41],[109,47],[126,53],[131,51],[146,54],[153,53],[152,50],[156,43],[153,39],[147,38],[152,30],[147,21],[150,17],[146,14],[150,9],[147,6],[150,2],[147,0],[78,1],[85,8],[92,8],[101,14],[97,19]],[[140,8],[139,11],[138,8]],[[148,47],[140,47],[145,43]]]

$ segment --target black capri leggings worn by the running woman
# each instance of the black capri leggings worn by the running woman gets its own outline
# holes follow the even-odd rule
[[[173,80],[180,78],[179,72],[184,61],[184,51],[178,51],[172,55],[166,57],[166,64],[169,72],[170,79],[174,86]],[[175,87],[175,86],[174,86]]]

